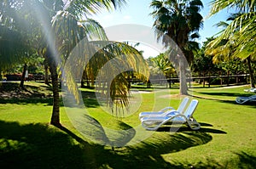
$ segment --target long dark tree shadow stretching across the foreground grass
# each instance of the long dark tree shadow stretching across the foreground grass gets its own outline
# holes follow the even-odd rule
[[[208,160],[190,165],[165,161],[163,154],[182,151],[212,140],[207,132],[177,132],[153,135],[152,138],[129,147],[112,150],[99,144],[89,144],[66,127],[0,121],[1,168],[217,168]],[[76,140],[77,142],[75,142]],[[241,168],[255,166],[255,156],[239,153]],[[252,165],[247,165],[252,164]],[[235,164],[236,165],[236,164]],[[223,166],[224,167],[224,166]]]

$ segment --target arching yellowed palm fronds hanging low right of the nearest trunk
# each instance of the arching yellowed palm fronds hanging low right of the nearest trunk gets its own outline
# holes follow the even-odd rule
[[[122,42],[84,42],[84,48],[85,46],[90,46],[90,54],[88,54],[88,50],[75,48],[77,50],[73,52],[75,55],[70,55],[68,58],[73,61],[68,61],[65,65],[69,91],[74,94],[76,99],[79,99],[75,79],[80,78],[85,69],[90,80],[94,81],[97,77],[96,88],[98,90],[96,93],[101,93],[102,97],[106,98],[106,104],[112,110],[113,107],[125,108],[129,104],[129,82],[125,77],[126,71],[137,71],[143,77],[149,75],[142,54]],[[81,49],[82,51],[80,51]],[[73,69],[74,66],[77,69]]]

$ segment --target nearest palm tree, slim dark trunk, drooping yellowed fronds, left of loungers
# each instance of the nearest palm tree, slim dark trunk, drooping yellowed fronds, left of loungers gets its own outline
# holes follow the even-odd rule
[[[8,1],[8,0],[6,0]],[[18,0],[17,0],[18,2]],[[102,42],[89,42],[90,37],[94,36],[100,40],[108,40],[102,26],[95,20],[90,20],[88,15],[97,13],[102,8],[118,8],[125,3],[125,0],[92,0],[92,1],[65,1],[62,0],[28,0],[19,2],[22,11],[33,14],[32,17],[37,18],[40,31],[44,34],[45,43],[47,46],[43,49],[45,59],[48,62],[51,74],[51,82],[53,87],[53,110],[50,123],[59,126],[60,124],[60,101],[59,101],[59,83],[58,77],[61,72],[58,72],[58,66],[64,65],[65,61],[70,56],[73,48],[78,44],[84,43],[84,48],[95,48],[96,45],[102,45]],[[3,17],[2,17],[3,18]],[[84,41],[85,39],[85,41]],[[93,43],[93,44],[92,44]],[[91,62],[91,68],[94,65],[104,65],[109,59],[116,57],[119,54],[127,54],[131,57],[119,59],[125,65],[134,66],[134,70],[139,72],[138,63],[142,62],[142,55],[135,49],[125,43],[108,42],[107,45],[101,46],[95,59],[96,63]],[[81,56],[80,56],[81,57]],[[99,59],[100,58],[100,59]],[[101,64],[102,63],[102,64]],[[98,68],[98,67],[96,67]],[[113,68],[114,69],[114,68]],[[72,70],[70,68],[70,70]],[[96,70],[96,69],[95,69]],[[114,78],[111,83],[109,96],[112,100],[119,100],[116,104],[128,104],[125,74],[121,74]],[[77,91],[73,84],[73,78],[69,79],[67,86],[70,92],[77,97]],[[121,84],[121,85],[119,85]],[[118,98],[118,99],[117,99]],[[110,100],[110,99],[109,99]],[[109,102],[109,104],[113,104]]]

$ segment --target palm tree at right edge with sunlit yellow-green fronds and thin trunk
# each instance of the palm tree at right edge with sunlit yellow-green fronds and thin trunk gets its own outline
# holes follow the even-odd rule
[[[240,59],[247,59],[247,66],[251,79],[251,87],[255,87],[251,61],[256,59],[256,2],[251,0],[212,1],[211,15],[218,13],[224,8],[236,8],[239,15],[231,21],[230,25],[218,36],[208,48],[230,48],[230,55]],[[223,39],[226,42],[223,44]]]

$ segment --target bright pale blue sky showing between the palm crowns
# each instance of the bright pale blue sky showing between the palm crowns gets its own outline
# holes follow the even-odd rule
[[[223,11],[208,18],[207,15],[210,12],[209,3],[212,0],[201,1],[204,4],[201,14],[205,20],[204,26],[200,31],[201,38],[199,39],[199,42],[204,42],[207,37],[212,37],[220,31],[220,29],[214,25],[219,21],[225,21],[229,14],[227,11]],[[151,0],[127,0],[125,7],[112,12],[102,11],[101,14],[93,16],[93,19],[97,20],[103,27],[121,24],[136,24],[152,27],[154,20],[152,19],[152,16],[149,15],[149,13],[152,12],[152,8],[149,8],[150,2]],[[156,56],[158,54],[158,52],[152,48],[147,48],[146,50],[145,47],[142,47],[143,45],[140,46],[141,48],[139,49],[144,50],[145,57]]]

